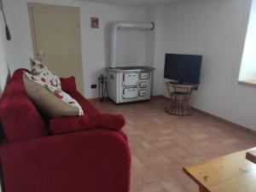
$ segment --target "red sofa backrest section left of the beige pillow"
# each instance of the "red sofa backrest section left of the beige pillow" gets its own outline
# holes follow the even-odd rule
[[[8,142],[49,135],[40,113],[26,95],[22,79],[24,70],[15,71],[0,101],[0,121]]]

